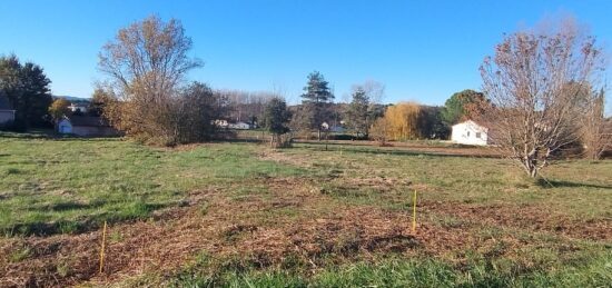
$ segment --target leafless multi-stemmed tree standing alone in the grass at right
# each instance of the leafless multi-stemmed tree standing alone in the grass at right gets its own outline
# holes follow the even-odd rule
[[[501,151],[536,177],[561,148],[580,140],[584,89],[604,69],[595,38],[564,19],[547,31],[505,36],[493,58],[481,66],[483,103],[480,121]]]

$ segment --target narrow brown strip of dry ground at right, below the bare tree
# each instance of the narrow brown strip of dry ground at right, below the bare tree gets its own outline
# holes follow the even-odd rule
[[[571,238],[612,241],[610,219],[580,221],[555,215],[543,207],[478,206],[458,202],[424,202],[425,210],[452,215],[463,221],[545,231]]]

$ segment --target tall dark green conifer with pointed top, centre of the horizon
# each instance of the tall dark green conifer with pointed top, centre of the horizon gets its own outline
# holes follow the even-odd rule
[[[322,123],[328,118],[328,106],[334,100],[328,82],[318,71],[308,75],[308,82],[304,87],[302,105],[308,129],[316,129],[320,140]]]

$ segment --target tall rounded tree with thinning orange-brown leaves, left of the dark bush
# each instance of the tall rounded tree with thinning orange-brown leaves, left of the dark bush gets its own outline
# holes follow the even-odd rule
[[[171,109],[187,72],[201,67],[189,57],[191,39],[178,20],[149,17],[117,32],[103,46],[98,68],[109,76],[116,107],[107,117],[128,136],[176,142]]]

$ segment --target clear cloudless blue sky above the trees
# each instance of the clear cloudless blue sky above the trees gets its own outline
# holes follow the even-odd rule
[[[504,32],[571,13],[606,43],[612,1],[0,1],[0,54],[41,64],[55,95],[89,97],[98,52],[150,14],[182,21],[214,88],[270,90],[296,101],[319,70],[342,100],[353,83],[386,85],[387,102],[442,105],[478,89],[478,66]]]

